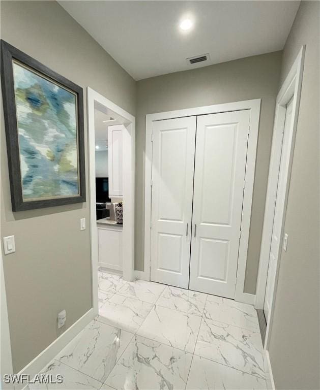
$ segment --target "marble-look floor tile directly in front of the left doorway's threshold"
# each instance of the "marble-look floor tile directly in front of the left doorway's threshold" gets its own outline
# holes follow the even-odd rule
[[[98,320],[135,333],[153,305],[114,294],[100,309]]]

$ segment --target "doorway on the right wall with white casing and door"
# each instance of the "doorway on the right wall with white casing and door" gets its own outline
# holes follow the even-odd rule
[[[263,236],[261,240],[255,307],[266,320],[265,350],[268,354],[279,259],[286,250],[284,232],[287,198],[295,147],[302,85],[303,46],[277,95]],[[263,319],[263,316],[260,316]]]

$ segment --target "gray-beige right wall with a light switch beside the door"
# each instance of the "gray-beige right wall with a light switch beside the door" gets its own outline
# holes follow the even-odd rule
[[[300,111],[269,354],[277,389],[318,389],[320,3],[301,2],[283,51],[281,80],[306,45]]]

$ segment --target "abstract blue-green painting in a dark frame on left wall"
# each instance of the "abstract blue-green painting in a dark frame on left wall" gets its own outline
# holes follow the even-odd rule
[[[85,202],[83,90],[1,41],[13,211]]]

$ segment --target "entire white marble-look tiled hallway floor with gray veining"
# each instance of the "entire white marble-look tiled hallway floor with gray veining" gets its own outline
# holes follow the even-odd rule
[[[27,389],[266,388],[253,306],[104,271],[98,301],[96,319],[40,373],[63,383]]]

